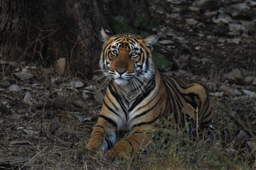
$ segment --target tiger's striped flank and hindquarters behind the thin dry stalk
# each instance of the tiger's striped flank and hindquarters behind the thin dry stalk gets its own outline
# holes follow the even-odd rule
[[[213,114],[206,88],[199,83],[186,84],[181,79],[161,76],[167,93],[165,114],[173,114],[171,124],[186,128],[187,135],[191,135],[191,130],[196,128],[196,119],[201,129],[208,128]]]

